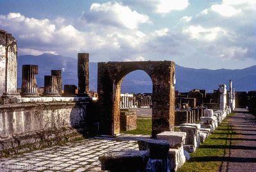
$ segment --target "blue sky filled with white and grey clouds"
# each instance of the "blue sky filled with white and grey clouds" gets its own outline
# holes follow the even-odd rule
[[[256,64],[255,0],[1,0],[0,29],[19,55],[90,61],[175,61],[237,69]]]

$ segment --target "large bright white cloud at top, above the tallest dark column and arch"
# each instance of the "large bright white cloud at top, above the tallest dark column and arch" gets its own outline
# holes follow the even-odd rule
[[[149,17],[132,11],[122,3],[93,3],[89,11],[84,12],[87,22],[116,27],[136,29],[140,24],[150,23]]]

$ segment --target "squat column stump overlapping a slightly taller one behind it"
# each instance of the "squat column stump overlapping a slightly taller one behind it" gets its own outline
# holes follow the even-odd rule
[[[57,76],[44,76],[44,96],[60,96]]]

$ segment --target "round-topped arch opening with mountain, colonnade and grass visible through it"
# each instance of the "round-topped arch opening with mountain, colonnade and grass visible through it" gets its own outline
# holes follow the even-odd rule
[[[120,94],[120,133],[152,133],[152,89],[152,80],[143,70],[124,76]]]

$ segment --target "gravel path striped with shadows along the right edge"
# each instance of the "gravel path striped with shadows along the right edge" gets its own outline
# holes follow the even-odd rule
[[[226,148],[220,171],[256,171],[256,119],[255,116],[239,110],[228,117],[234,135]]]

